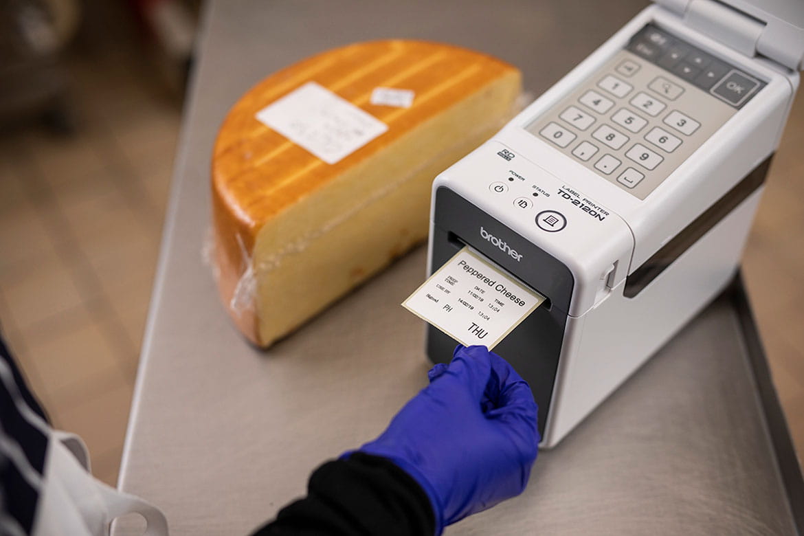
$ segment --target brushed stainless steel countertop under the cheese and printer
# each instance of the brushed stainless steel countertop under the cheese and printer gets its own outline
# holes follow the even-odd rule
[[[301,495],[323,460],[381,432],[426,382],[423,325],[399,305],[425,276],[424,248],[267,352],[232,326],[202,250],[212,143],[243,92],[329,47],[411,37],[507,59],[539,94],[644,5],[211,2],[121,489],[159,505],[171,534],[244,534]],[[739,317],[721,299],[542,452],[521,497],[445,534],[796,534],[787,501]]]

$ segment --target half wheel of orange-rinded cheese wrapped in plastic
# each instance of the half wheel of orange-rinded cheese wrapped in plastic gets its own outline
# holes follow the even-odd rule
[[[211,165],[212,263],[240,331],[269,346],[425,239],[433,178],[520,91],[508,63],[408,40],[326,51],[248,91]]]

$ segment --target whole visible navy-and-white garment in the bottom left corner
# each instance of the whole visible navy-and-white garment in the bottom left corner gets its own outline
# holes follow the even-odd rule
[[[167,536],[160,509],[96,480],[80,437],[51,428],[0,337],[0,536],[109,536],[139,513],[145,536]]]

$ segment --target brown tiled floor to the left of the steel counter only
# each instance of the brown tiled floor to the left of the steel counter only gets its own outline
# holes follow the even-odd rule
[[[0,322],[55,425],[84,437],[111,484],[180,119],[135,58],[68,61],[75,137],[0,137]]]

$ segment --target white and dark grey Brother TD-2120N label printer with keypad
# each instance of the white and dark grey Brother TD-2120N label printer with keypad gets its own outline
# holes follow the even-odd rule
[[[656,0],[438,175],[429,273],[469,246],[547,297],[494,350],[543,447],[732,279],[802,59],[801,0]]]

